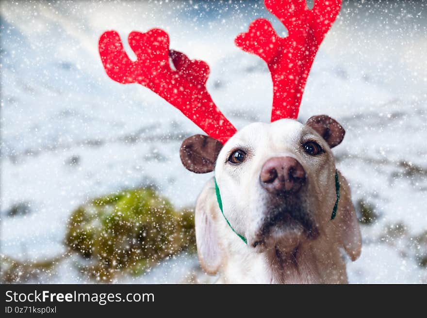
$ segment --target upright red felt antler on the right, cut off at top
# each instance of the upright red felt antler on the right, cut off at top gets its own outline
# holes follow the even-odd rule
[[[279,37],[270,22],[257,19],[236,45],[261,57],[273,80],[271,121],[296,118],[299,104],[317,49],[341,8],[342,0],[314,0],[312,10],[306,0],[264,0],[267,9],[288,30]]]

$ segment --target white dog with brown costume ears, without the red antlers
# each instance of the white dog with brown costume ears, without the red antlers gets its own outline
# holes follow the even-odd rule
[[[201,267],[219,273],[218,283],[347,283],[345,261],[361,254],[361,232],[331,152],[344,135],[319,115],[305,125],[253,123],[224,145],[184,140],[184,166],[215,175],[196,203]]]

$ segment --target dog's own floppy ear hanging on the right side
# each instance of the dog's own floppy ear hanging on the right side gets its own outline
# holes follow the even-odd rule
[[[339,222],[339,235],[345,252],[352,261],[358,259],[361,254],[362,238],[356,211],[351,202],[350,187],[341,173],[340,179],[340,202],[338,203],[337,221]],[[334,222],[334,221],[331,221]]]

